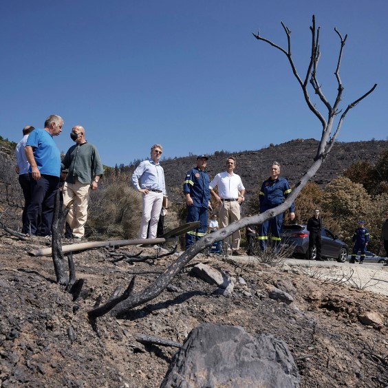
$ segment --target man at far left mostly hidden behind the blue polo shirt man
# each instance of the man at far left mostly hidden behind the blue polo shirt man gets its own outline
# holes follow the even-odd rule
[[[17,165],[15,166],[15,171],[19,174],[19,184],[21,186],[21,190],[23,191],[24,197],[24,208],[23,214],[21,216],[21,221],[23,226],[21,228],[21,233],[28,233],[27,225],[25,224],[25,217],[27,215],[28,205],[31,200],[31,182],[30,182],[30,174],[28,173],[28,169],[30,169],[30,163],[28,163],[27,157],[25,156],[25,143],[27,142],[28,136],[30,132],[34,131],[34,127],[31,125],[27,125],[27,127],[23,128],[23,138],[17,143],[17,147],[15,148],[15,156],[17,160]]]

